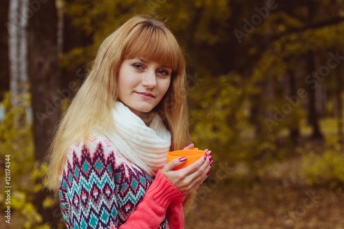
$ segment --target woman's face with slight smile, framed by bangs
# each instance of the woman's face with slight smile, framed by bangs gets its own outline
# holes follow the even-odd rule
[[[137,116],[151,111],[166,94],[171,67],[144,58],[126,59],[118,69],[118,98]]]

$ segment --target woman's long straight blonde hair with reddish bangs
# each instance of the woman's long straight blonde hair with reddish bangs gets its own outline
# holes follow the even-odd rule
[[[142,57],[172,68],[168,91],[153,109],[160,113],[171,131],[171,151],[189,144],[189,118],[186,101],[185,60],[178,41],[166,25],[156,19],[136,16],[111,33],[100,45],[91,71],[78,90],[56,129],[49,152],[46,186],[58,193],[58,182],[67,149],[100,127],[113,128],[111,109],[118,98],[117,70],[127,58]],[[184,212],[195,193],[186,196]]]

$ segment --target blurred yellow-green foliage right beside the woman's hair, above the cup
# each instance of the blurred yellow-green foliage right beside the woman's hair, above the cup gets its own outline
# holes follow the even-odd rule
[[[277,147],[274,135],[255,138],[250,131],[250,96],[257,87],[238,74],[204,79],[191,100],[191,139],[200,149],[211,149],[215,160],[254,164],[259,157],[274,157]]]

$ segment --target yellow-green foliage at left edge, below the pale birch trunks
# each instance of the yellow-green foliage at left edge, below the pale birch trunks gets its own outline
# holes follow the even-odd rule
[[[4,120],[0,122],[0,157],[5,162],[10,155],[10,204],[6,204],[6,193],[0,193],[0,206],[5,209],[11,206],[14,228],[50,228],[43,219],[37,206],[34,206],[35,194],[43,188],[47,166],[34,163],[34,143],[32,139],[32,121],[30,121],[30,94],[19,98],[21,104],[12,106],[11,95],[6,93],[2,105],[6,109]],[[5,169],[1,169],[1,177],[5,177]],[[4,187],[4,184],[1,184]],[[51,199],[43,201],[46,208],[50,207]]]

